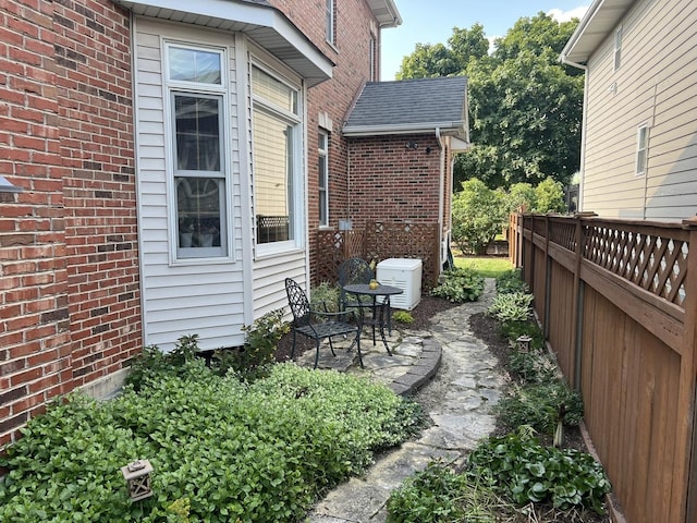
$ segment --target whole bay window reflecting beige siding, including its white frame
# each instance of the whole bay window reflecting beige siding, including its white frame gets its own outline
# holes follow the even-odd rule
[[[252,68],[252,136],[256,243],[293,248],[302,235],[302,151],[298,89]]]

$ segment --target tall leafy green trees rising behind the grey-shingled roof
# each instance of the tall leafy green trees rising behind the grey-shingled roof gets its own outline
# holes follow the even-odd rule
[[[489,41],[484,27],[453,28],[443,44],[418,44],[399,78],[466,75],[473,147],[455,161],[455,186],[476,178],[491,188],[537,185],[551,177],[565,185],[578,170],[583,74],[559,62],[578,24],[540,12],[519,19]]]

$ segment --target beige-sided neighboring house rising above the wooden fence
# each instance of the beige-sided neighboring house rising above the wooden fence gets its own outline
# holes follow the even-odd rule
[[[595,0],[562,51],[586,71],[579,210],[697,214],[697,2]]]

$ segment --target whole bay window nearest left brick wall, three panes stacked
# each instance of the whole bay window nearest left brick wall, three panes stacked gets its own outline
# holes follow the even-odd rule
[[[223,49],[166,46],[176,258],[228,255]]]

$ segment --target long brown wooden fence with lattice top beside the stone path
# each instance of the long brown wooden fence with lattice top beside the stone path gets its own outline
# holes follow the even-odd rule
[[[697,218],[513,215],[510,235],[626,521],[696,522]]]

